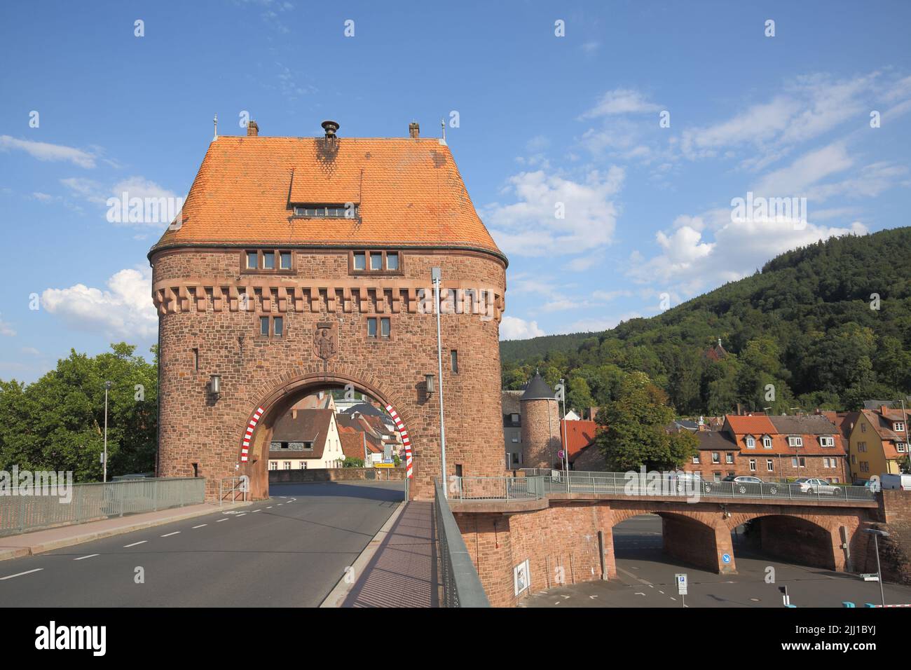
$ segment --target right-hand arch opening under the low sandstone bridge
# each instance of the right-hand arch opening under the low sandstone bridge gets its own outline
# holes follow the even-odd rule
[[[844,570],[838,528],[793,514],[737,515],[729,525],[732,545],[742,557]]]

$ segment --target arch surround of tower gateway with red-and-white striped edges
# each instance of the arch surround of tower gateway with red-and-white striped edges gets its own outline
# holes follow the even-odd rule
[[[353,376],[303,375],[283,382],[264,394],[251,409],[246,424],[238,427],[241,437],[237,450],[237,470],[239,474],[250,478],[251,500],[269,497],[270,462],[272,460],[272,463],[275,463],[275,460],[271,459],[271,445],[278,421],[281,417],[286,417],[295,404],[318,391],[343,391],[345,396],[353,394],[355,399],[363,394],[364,397],[374,400],[392,419],[391,423],[401,442],[401,450],[396,450],[395,456],[404,465],[406,476],[412,474],[414,452],[411,436],[406,428],[405,419],[395,407],[394,397],[390,393],[376,384],[363,382]],[[336,427],[336,431],[339,431],[339,428]],[[281,454],[277,456],[281,457]],[[302,457],[303,454],[299,456]],[[337,460],[343,457],[333,455],[332,459],[333,464],[337,465]],[[325,459],[321,458],[319,462],[322,463],[323,460]],[[301,459],[301,462],[305,463],[306,459]]]

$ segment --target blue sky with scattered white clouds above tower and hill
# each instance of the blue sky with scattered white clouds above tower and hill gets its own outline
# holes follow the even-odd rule
[[[215,113],[222,135],[244,133],[243,112],[262,135],[336,119],[343,137],[404,137],[415,119],[436,137],[446,119],[510,259],[504,338],[658,314],[795,246],[908,222],[906,2],[2,11],[4,379],[34,380],[70,347],[154,343],[146,253],[162,226],[108,222],[105,201],[185,196]],[[732,217],[748,191],[804,197],[806,216]]]

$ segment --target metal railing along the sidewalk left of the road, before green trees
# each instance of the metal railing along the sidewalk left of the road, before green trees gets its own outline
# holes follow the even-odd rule
[[[206,480],[201,477],[73,484],[68,492],[58,491],[66,497],[16,492],[0,496],[0,536],[195,505],[205,500],[205,492]]]

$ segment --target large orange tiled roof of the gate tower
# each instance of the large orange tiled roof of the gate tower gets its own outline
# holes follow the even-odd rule
[[[355,202],[360,219],[292,217],[292,205]],[[459,247],[506,260],[438,139],[219,137],[189,190],[179,229],[152,247]]]

